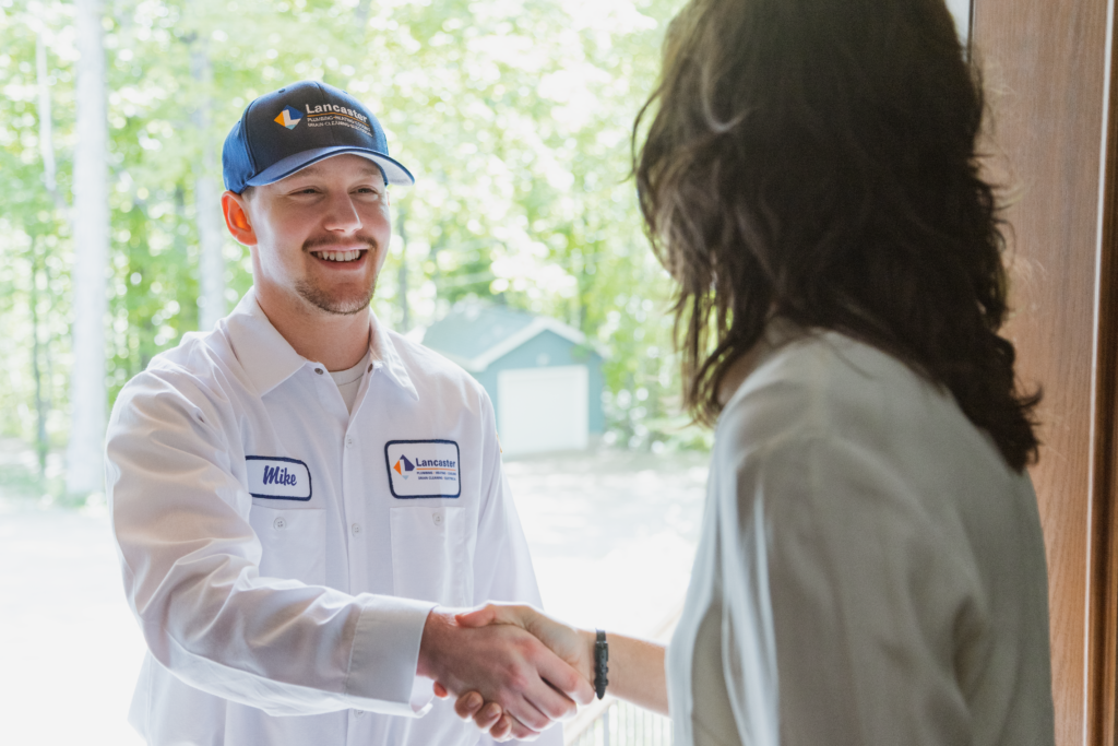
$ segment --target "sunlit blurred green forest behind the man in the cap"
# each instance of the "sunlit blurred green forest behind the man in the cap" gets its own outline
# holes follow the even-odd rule
[[[468,298],[553,317],[607,355],[607,445],[701,447],[629,178],[679,6],[0,0],[0,437],[34,454],[0,489],[100,490],[121,386],[252,283],[220,221],[225,135],[304,78],[363,101],[417,177],[392,195],[382,320]]]

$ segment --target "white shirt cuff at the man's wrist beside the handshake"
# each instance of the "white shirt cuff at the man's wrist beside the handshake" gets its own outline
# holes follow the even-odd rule
[[[416,676],[416,667],[423,629],[436,604],[373,595],[364,595],[362,601],[345,697],[357,709],[407,717],[424,715],[434,692],[429,679]]]

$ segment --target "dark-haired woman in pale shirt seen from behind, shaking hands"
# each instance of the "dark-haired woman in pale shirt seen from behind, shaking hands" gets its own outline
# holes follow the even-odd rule
[[[1040,396],[997,334],[983,108],[942,0],[692,0],[671,25],[636,178],[716,445],[666,665],[609,634],[608,691],[678,744],[1053,743]],[[594,676],[589,631],[461,621]]]

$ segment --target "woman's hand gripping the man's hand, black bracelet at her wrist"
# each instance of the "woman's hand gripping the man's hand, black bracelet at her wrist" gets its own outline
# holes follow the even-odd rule
[[[519,626],[538,638],[559,658],[579,672],[587,686],[594,676],[594,633],[577,630],[557,622],[536,608],[517,604],[487,604],[472,612],[458,614],[456,621],[462,626],[482,627],[491,624]],[[446,690],[435,686],[436,693],[446,696]],[[473,718],[482,730],[489,731],[496,740],[509,737],[523,738],[522,724],[513,714],[502,710],[499,702],[483,697],[479,691],[457,692],[455,711],[463,719]],[[593,699],[593,689],[591,689]],[[590,700],[579,700],[586,705]]]

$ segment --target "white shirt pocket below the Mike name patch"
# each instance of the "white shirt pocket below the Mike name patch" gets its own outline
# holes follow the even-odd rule
[[[253,504],[248,522],[260,539],[260,575],[326,584],[326,512]]]

